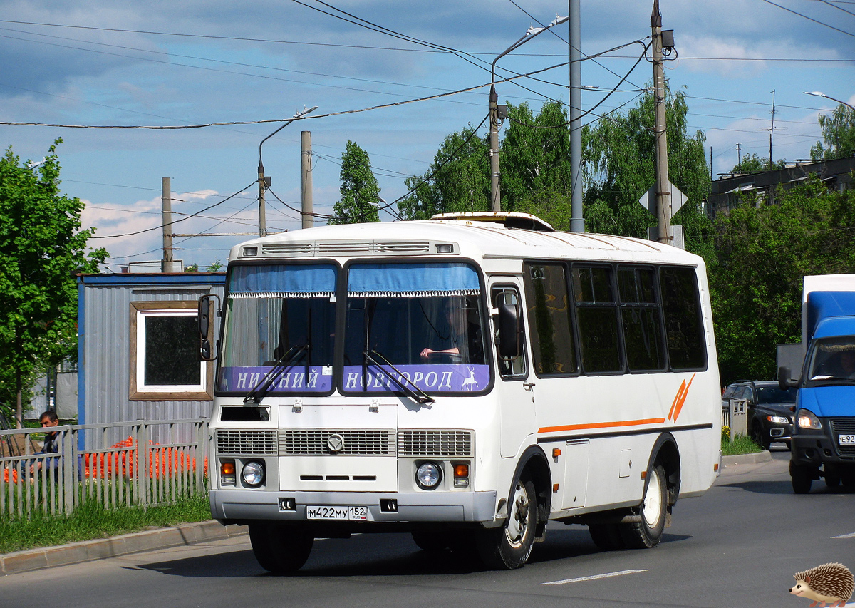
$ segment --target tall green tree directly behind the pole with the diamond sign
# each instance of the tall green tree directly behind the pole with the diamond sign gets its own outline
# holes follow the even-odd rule
[[[687,199],[684,217],[694,214],[684,226],[687,242],[703,239],[707,224],[699,205],[710,192],[710,170],[704,154],[705,135],[687,133],[686,93],[666,87],[665,114],[668,129],[669,180]],[[641,97],[626,115],[617,113],[600,119],[596,126],[582,128],[582,173],[586,180],[585,216],[593,215],[586,229],[646,238],[647,227],[656,220],[638,204],[656,183],[655,124],[652,93]]]

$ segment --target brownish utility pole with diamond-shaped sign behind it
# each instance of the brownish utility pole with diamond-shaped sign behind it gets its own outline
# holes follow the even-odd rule
[[[662,15],[659,0],[653,0],[650,15],[653,34],[653,102],[655,103],[656,125],[656,209],[658,241],[671,244],[671,187],[668,179],[668,131],[665,127],[665,74],[662,56]]]

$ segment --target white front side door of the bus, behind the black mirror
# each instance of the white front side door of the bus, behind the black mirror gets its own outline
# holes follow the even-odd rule
[[[520,452],[522,441],[534,434],[534,382],[528,381],[528,334],[525,331],[525,307],[520,298],[520,285],[516,277],[493,277],[490,282],[490,305],[510,304],[518,309],[522,323],[522,352],[519,357],[504,359],[499,355],[493,339],[494,356],[498,367],[498,398],[501,426],[501,455],[510,458]],[[498,333],[493,318],[494,332]]]

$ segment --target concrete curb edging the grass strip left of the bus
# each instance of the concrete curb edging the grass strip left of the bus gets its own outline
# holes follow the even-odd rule
[[[156,528],[105,539],[84,540],[63,546],[44,546],[0,555],[0,576],[43,570],[54,566],[81,564],[96,559],[189,546],[246,534],[246,528],[223,526],[220,522],[182,523],[174,528]]]

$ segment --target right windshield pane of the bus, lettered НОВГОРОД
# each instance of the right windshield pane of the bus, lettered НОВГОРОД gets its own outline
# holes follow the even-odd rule
[[[490,372],[482,305],[478,274],[469,264],[352,264],[345,392],[396,391],[399,374],[427,393],[485,390]]]

